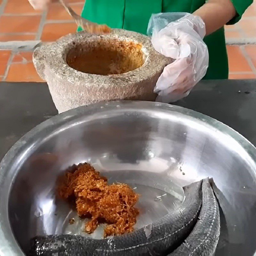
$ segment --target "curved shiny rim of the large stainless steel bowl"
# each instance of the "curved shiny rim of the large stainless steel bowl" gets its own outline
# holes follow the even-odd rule
[[[158,103],[151,101],[110,101],[110,102],[100,102],[89,106],[82,106],[74,108],[63,112],[59,115],[53,116],[50,119],[44,121],[43,123],[37,125],[35,128],[30,130],[24,136],[20,138],[10,150],[6,153],[4,158],[0,163],[0,255],[1,256],[14,256],[14,255],[24,255],[18,242],[16,241],[13,233],[8,215],[8,199],[11,191],[11,184],[15,178],[15,166],[17,167],[21,160],[18,161],[19,157],[24,154],[29,149],[33,148],[37,142],[41,141],[41,137],[49,134],[49,131],[56,130],[67,122],[72,122],[72,120],[77,119],[78,116],[90,116],[100,112],[106,111],[106,109],[129,109],[136,111],[143,110],[158,110],[166,114],[179,113],[186,116],[190,120],[196,120],[201,124],[205,124],[208,127],[213,128],[224,135],[231,137],[245,150],[248,154],[251,164],[253,165],[256,177],[256,148],[252,143],[244,138],[241,134],[236,132],[234,129],[230,128],[228,125],[223,124],[216,119],[196,112],[194,110],[183,108],[180,106],[175,106],[166,103]],[[40,135],[39,138],[36,135]],[[10,168],[12,167],[12,168]],[[17,173],[16,173],[17,174]],[[10,181],[10,182],[6,182]],[[255,191],[256,192],[256,191]],[[254,253],[256,256],[256,252]]]

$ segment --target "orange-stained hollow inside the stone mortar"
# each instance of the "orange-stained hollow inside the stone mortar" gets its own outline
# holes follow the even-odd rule
[[[101,38],[73,43],[66,60],[71,68],[87,74],[113,75],[140,68],[145,56],[139,43]]]

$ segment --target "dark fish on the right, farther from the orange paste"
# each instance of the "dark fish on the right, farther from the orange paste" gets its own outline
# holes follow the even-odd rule
[[[169,256],[214,255],[220,236],[220,213],[209,178],[203,180],[202,192],[202,207],[194,229]]]

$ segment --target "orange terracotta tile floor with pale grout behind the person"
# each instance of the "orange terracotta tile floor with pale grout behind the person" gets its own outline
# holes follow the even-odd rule
[[[81,13],[83,0],[69,0]],[[9,41],[54,41],[76,31],[76,24],[58,3],[35,11],[28,0],[0,0],[0,81],[41,81],[32,63],[32,52],[6,50]],[[229,78],[256,78],[256,2],[243,19],[225,28]],[[7,46],[6,46],[7,45]]]

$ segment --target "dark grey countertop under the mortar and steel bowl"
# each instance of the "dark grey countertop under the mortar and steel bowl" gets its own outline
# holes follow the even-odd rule
[[[256,145],[256,80],[201,81],[175,104],[227,124]],[[46,83],[0,83],[0,159],[22,135],[56,114]]]

